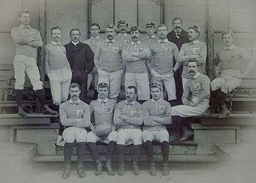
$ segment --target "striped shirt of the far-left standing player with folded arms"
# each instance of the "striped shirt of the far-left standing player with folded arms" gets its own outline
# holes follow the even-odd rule
[[[29,26],[15,27],[11,30],[13,41],[16,44],[15,55],[37,57],[37,48],[43,46],[40,33]]]

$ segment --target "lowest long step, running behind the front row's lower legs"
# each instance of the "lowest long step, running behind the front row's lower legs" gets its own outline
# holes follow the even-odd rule
[[[101,155],[100,159],[102,161],[106,161],[106,155]],[[125,161],[132,161],[133,156],[132,155],[126,155]],[[64,162],[63,156],[35,156],[33,158],[35,163],[61,163]],[[72,162],[77,161],[77,156],[72,156]],[[93,162],[91,155],[84,156],[84,160],[86,162]],[[163,156],[162,155],[155,155],[154,160],[156,162],[162,162]],[[184,163],[206,163],[206,162],[220,162],[221,158],[215,155],[169,155],[169,161],[170,162],[184,162]],[[114,156],[113,162],[117,162],[117,157]],[[147,156],[141,155],[140,156],[140,162],[147,162]]]

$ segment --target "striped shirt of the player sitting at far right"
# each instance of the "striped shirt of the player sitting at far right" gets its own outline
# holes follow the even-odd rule
[[[214,62],[216,65],[220,63],[221,70],[238,70],[244,61],[252,61],[252,56],[246,50],[240,47],[223,48],[216,52]]]

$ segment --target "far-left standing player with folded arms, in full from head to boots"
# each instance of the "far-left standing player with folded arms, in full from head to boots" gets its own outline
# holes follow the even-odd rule
[[[38,30],[29,26],[29,11],[20,11],[20,26],[11,30],[13,41],[16,44],[16,52],[13,61],[15,77],[15,97],[18,105],[18,114],[26,115],[22,109],[22,89],[24,89],[25,72],[36,92],[36,98],[44,108],[44,113],[56,114],[45,103],[43,83],[40,81],[40,73],[36,65],[38,47],[42,47],[43,41]]]

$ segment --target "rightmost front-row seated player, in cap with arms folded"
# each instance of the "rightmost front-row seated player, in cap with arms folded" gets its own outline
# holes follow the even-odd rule
[[[156,166],[153,158],[153,144],[156,140],[161,143],[161,151],[163,154],[163,175],[168,175],[170,170],[168,167],[169,157],[169,133],[164,125],[172,123],[171,105],[162,99],[162,88],[159,84],[150,85],[150,94],[152,99],[145,101],[142,105],[143,111],[143,127],[142,138],[146,145],[148,163],[150,163],[150,175],[156,175]]]

